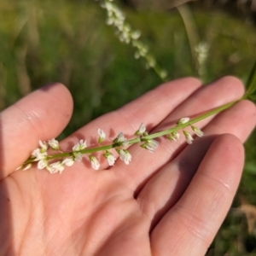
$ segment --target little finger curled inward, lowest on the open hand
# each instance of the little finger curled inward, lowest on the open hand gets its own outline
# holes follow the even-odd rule
[[[154,228],[153,255],[205,255],[235,196],[242,166],[241,142],[217,137],[182,198]]]

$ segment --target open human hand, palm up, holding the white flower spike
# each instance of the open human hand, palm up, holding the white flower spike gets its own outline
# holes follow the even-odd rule
[[[79,139],[90,145],[98,128],[111,139],[119,131],[134,134],[142,122],[161,131],[242,94],[231,77],[205,87],[178,79],[84,125],[61,148],[70,150]],[[241,143],[256,121],[253,103],[238,102],[197,123],[205,136],[191,145],[160,138],[154,154],[132,145],[129,166],[117,160],[109,167],[101,159],[99,171],[86,160],[61,175],[36,167],[14,171],[38,140],[60,134],[72,106],[67,89],[52,84],[1,113],[0,254],[204,255],[240,181]]]

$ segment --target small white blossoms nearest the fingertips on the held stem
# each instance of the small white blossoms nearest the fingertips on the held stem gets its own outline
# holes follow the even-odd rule
[[[183,118],[177,121],[176,125],[183,125],[189,122],[189,118]],[[190,125],[192,130],[195,132],[195,135],[198,137],[202,137],[204,133],[196,126]],[[183,135],[186,138],[186,141],[188,144],[192,144],[194,141],[194,137],[189,133],[189,131],[184,131],[183,130]],[[180,138],[180,134],[177,131],[173,131],[171,134],[167,134],[166,137],[171,140],[177,142]]]

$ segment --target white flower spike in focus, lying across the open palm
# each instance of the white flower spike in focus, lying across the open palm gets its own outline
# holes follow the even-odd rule
[[[191,126],[192,130],[197,136],[203,136],[203,132],[199,128],[189,124],[189,118],[180,119],[176,125],[182,125],[182,127],[184,127],[184,124],[187,124],[185,126]],[[191,144],[194,139],[189,131],[183,130],[183,134],[186,138],[187,143]],[[146,131],[146,127],[144,124],[140,125],[139,129],[135,132],[134,135],[136,136],[136,143],[140,142],[140,146],[147,149],[151,153],[154,153],[154,150],[159,146],[159,143],[156,140],[149,138],[148,131]],[[177,131],[173,131],[170,134],[167,134],[166,137],[168,137],[172,141],[177,142],[180,135]],[[102,131],[102,129],[98,129],[98,144],[101,144],[105,140],[105,138],[106,133]],[[81,161],[84,154],[88,155],[92,168],[98,170],[100,168],[100,163],[97,160],[96,156],[92,155],[91,152],[102,152],[103,157],[108,161],[108,165],[113,166],[116,158],[108,150],[110,148],[114,148],[119,154],[119,159],[123,160],[126,165],[129,165],[129,163],[131,162],[131,154],[127,149],[125,149],[125,147],[127,147],[128,145],[129,141],[127,141],[123,132],[120,132],[118,136],[113,140],[113,143],[110,145],[87,149],[86,141],[80,140],[79,143],[73,146],[72,152],[66,153],[63,153],[60,150],[60,144],[54,138],[49,140],[48,142],[39,141],[39,148],[35,149],[32,152],[30,158],[26,160],[23,165],[17,168],[17,170],[19,170],[20,168],[23,168],[23,170],[27,170],[32,166],[34,162],[37,162],[38,169],[46,169],[50,173],[61,173],[63,172],[65,166],[73,166],[75,161]],[[57,151],[56,154],[55,151]]]

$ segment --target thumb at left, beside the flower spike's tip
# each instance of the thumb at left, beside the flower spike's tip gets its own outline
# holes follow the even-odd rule
[[[50,84],[0,113],[0,178],[20,166],[39,140],[57,137],[67,125],[73,100],[62,84]]]

